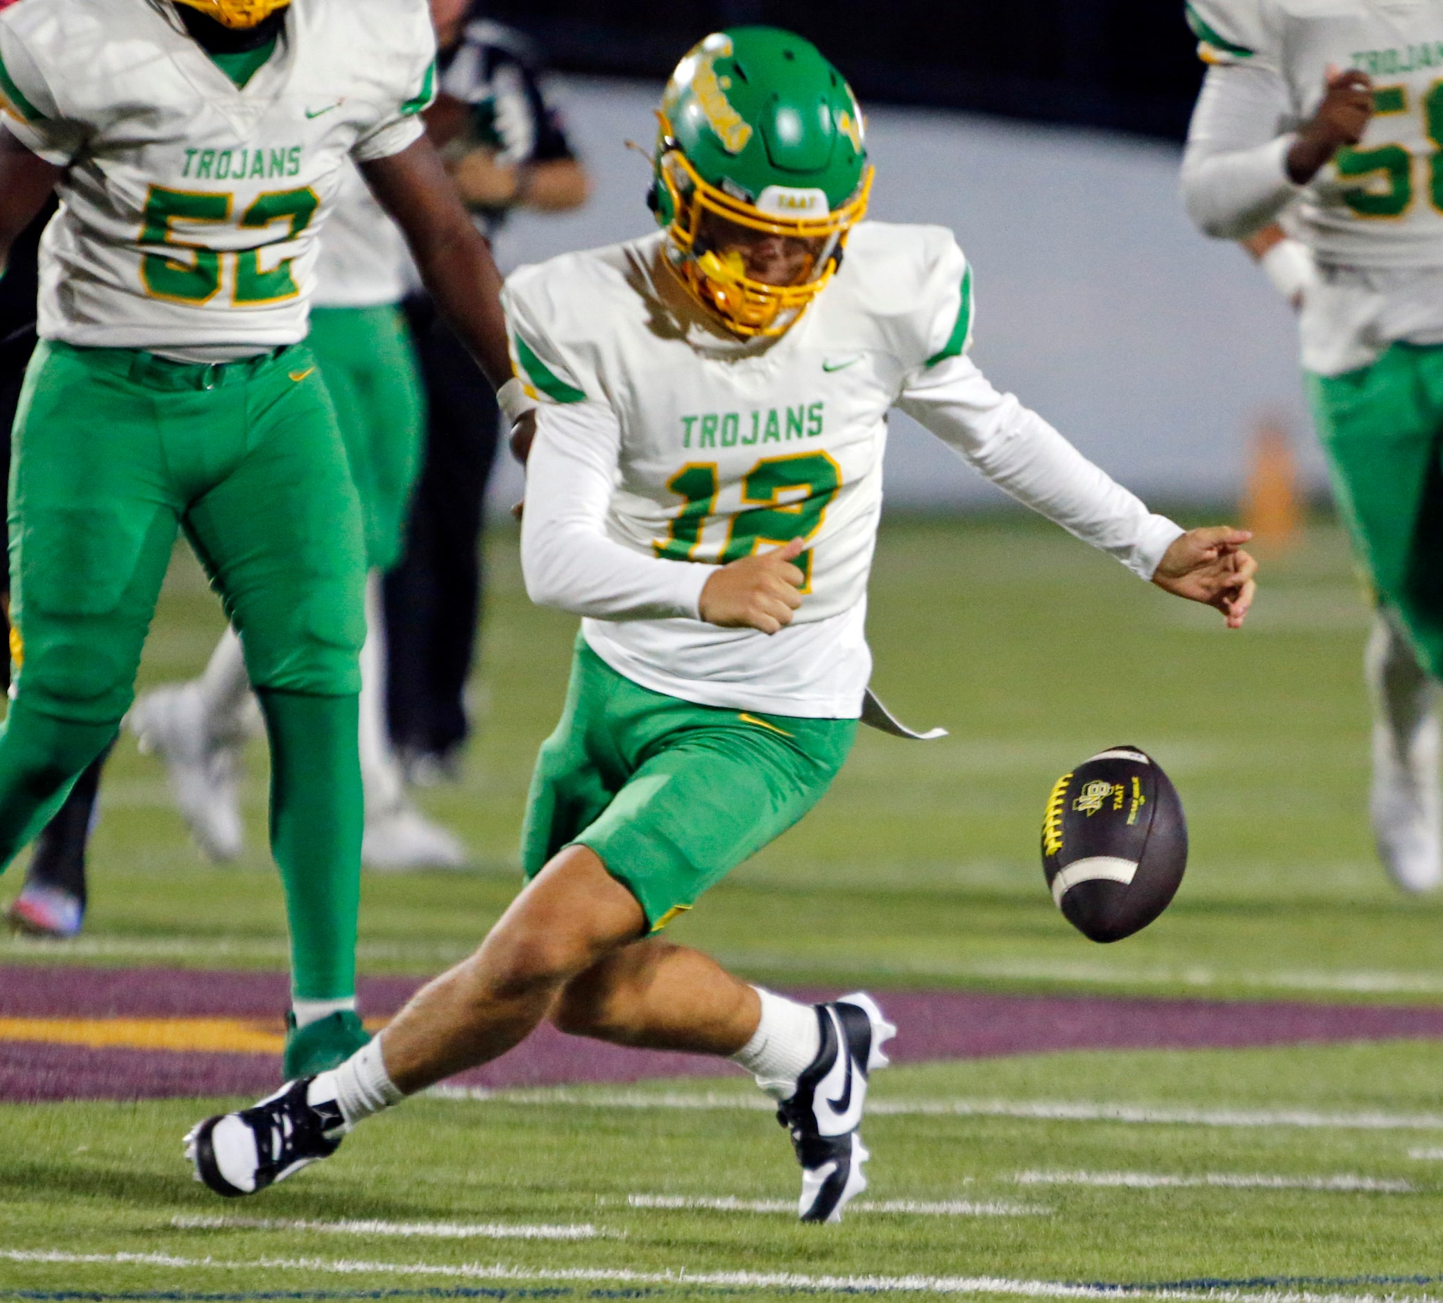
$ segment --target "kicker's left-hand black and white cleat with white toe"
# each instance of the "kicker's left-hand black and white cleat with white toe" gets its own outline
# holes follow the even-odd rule
[[[351,1128],[333,1100],[309,1101],[313,1081],[306,1076],[287,1082],[250,1108],[209,1117],[196,1126],[185,1139],[195,1179],[235,1199],[329,1159]]]

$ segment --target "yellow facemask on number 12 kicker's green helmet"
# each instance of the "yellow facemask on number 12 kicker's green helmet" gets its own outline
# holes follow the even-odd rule
[[[662,117],[662,133],[670,124]],[[762,212],[755,203],[736,199],[709,185],[680,149],[662,157],[661,179],[671,198],[675,216],[667,227],[670,253],[677,274],[709,312],[716,313],[736,335],[784,335],[795,325],[831,280],[838,255],[851,228],[867,212],[873,169],[869,167],[857,193],[825,216],[784,218]],[[739,227],[795,240],[817,240],[821,247],[807,278],[799,284],[772,286],[746,274],[737,253],[697,248],[697,234],[704,214],[714,214]]]

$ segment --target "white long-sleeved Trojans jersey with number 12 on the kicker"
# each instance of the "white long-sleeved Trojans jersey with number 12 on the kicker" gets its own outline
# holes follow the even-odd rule
[[[892,407],[1140,574],[1180,532],[965,358],[971,271],[949,231],[863,222],[802,317],[749,342],[696,303],[664,238],[524,267],[504,294],[517,374],[541,403],[528,590],[587,616],[586,641],[628,678],[709,706],[857,717]],[[798,537],[807,582],[788,628],[698,618],[714,566]]]

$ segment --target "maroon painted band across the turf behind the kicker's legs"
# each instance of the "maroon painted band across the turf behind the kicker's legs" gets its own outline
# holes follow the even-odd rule
[[[414,978],[361,983],[367,1017],[394,1013]],[[801,993],[818,997],[820,993]],[[898,1062],[1068,1049],[1225,1049],[1342,1040],[1443,1039],[1443,1009],[1283,1001],[1136,1000],[890,991]],[[167,968],[0,967],[0,1017],[278,1020],[281,974]],[[456,1078],[462,1085],[522,1087],[714,1076],[734,1071],[697,1055],[648,1053],[541,1027],[511,1053]],[[0,1101],[146,1100],[257,1094],[278,1084],[268,1055],[89,1049],[0,1040]]]

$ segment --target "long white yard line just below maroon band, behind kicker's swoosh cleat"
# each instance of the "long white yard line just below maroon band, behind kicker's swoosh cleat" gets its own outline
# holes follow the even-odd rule
[[[489,1091],[433,1087],[433,1100],[579,1108],[684,1108],[771,1113],[760,1094],[730,1091]],[[1303,1127],[1341,1131],[1443,1131],[1439,1113],[1316,1113],[1310,1108],[1156,1108],[1069,1100],[870,1100],[872,1117],[1014,1117],[1052,1123],[1126,1123],[1175,1127]],[[1443,1151],[1440,1151],[1443,1153]]]

